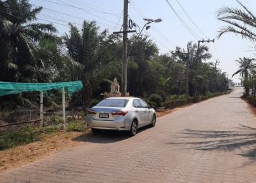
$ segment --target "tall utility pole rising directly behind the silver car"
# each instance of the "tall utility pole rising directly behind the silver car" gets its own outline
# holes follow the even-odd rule
[[[128,49],[128,0],[124,0],[124,29],[123,29],[123,64],[122,64],[122,96],[127,92],[127,49]]]

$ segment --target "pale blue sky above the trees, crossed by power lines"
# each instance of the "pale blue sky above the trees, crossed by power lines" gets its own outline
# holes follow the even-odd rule
[[[206,38],[196,29],[188,17],[186,17],[186,14],[182,12],[177,0],[169,0],[169,2],[196,35],[200,36],[200,38]],[[256,1],[241,0],[241,2],[256,14]],[[97,21],[100,30],[108,28],[109,31],[119,31],[122,25],[122,19],[118,22],[123,11],[124,2],[122,0],[31,0],[30,3],[51,9],[42,11],[40,21],[52,21],[54,26],[58,28],[60,35],[68,32],[67,22],[73,22],[79,27],[83,21],[82,19]],[[240,7],[235,0],[179,0],[179,3],[195,24],[207,35],[207,38],[211,39],[216,38],[218,30],[224,25],[223,22],[216,19],[216,12],[219,8],[223,6]],[[61,4],[66,4],[67,6]],[[68,6],[68,4],[82,8],[83,10],[72,8],[72,6]],[[53,12],[52,10],[69,15],[63,15],[58,12]],[[172,12],[170,6],[166,3],[166,0],[132,0],[129,4],[129,16],[134,22],[140,25],[141,28],[145,23],[142,17],[148,19],[163,19],[162,22],[152,25],[152,28],[148,29],[147,32],[144,31],[144,33],[148,33],[150,38],[156,42],[160,53],[174,50],[176,46],[185,47],[190,40],[197,44],[198,38],[192,36],[188,30],[184,28],[179,19]],[[54,22],[58,22],[58,24]],[[211,43],[210,52],[212,59],[210,61],[215,62],[216,59],[220,60],[218,67],[220,67],[223,72],[227,72],[229,77],[237,70],[235,62],[237,58],[242,56],[254,56],[254,52],[251,51],[252,43],[235,35],[227,34],[221,37],[220,40],[216,39],[215,47],[216,51],[214,44]],[[239,76],[234,77],[234,81],[239,81],[238,78]]]

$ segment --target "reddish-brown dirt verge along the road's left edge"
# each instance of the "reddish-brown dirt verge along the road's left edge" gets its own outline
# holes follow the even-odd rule
[[[157,117],[159,118],[168,115],[173,111],[177,111],[184,107],[186,106],[158,112]],[[36,159],[46,157],[54,152],[63,150],[64,148],[74,147],[80,142],[73,141],[72,139],[84,134],[90,134],[90,129],[87,129],[84,132],[58,132],[56,134],[47,134],[42,137],[41,141],[0,151],[0,171],[31,163]]]

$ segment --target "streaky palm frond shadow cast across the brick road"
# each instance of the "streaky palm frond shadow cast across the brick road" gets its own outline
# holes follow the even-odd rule
[[[238,129],[239,131],[196,131],[187,129],[182,132],[184,136],[181,138],[188,139],[188,141],[170,144],[187,144],[192,145],[189,148],[205,151],[236,151],[237,154],[256,161],[256,129],[246,125],[240,125]]]

